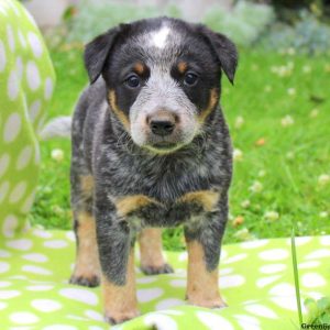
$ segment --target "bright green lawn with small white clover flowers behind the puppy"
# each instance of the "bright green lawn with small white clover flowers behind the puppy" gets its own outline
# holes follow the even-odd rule
[[[53,51],[57,87],[50,117],[73,111],[87,84],[80,51]],[[330,57],[240,54],[235,86],[223,78],[222,106],[235,151],[224,242],[329,233]],[[63,161],[52,158],[61,148]],[[32,221],[70,228],[70,143],[42,142],[43,166]],[[323,175],[323,176],[322,176]],[[164,245],[184,246],[166,230]]]

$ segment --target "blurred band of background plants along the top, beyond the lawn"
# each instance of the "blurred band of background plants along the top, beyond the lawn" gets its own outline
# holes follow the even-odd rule
[[[155,0],[142,1],[146,4],[136,6],[134,1],[70,0],[70,6],[59,9],[63,18],[61,23],[55,29],[46,29],[47,41],[54,48],[81,47],[120,22],[169,15],[204,22],[244,48],[253,46],[265,51],[290,50],[307,54],[327,53],[330,48],[328,0],[206,0],[207,6],[198,14],[191,11],[195,1],[190,7],[185,2]],[[44,15],[42,18],[44,22]]]

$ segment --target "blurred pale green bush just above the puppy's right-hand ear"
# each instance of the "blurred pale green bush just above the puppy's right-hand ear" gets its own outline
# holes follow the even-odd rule
[[[237,44],[249,46],[256,42],[274,19],[272,7],[239,1],[231,12],[220,6],[211,7],[204,22],[215,31],[224,33]]]

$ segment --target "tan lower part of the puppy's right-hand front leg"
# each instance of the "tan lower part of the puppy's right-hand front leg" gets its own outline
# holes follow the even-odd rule
[[[208,272],[204,250],[197,241],[187,242],[188,248],[188,280],[187,299],[190,304],[212,308],[223,307],[218,288],[218,270]]]

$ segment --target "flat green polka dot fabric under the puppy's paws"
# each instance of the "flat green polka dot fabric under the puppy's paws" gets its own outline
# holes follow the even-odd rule
[[[297,249],[302,298],[329,295],[330,237],[298,238]],[[229,305],[223,309],[186,305],[187,254],[165,254],[175,273],[145,276],[136,267],[142,316],[113,329],[298,328],[289,239],[223,246],[219,287]],[[2,241],[1,329],[108,329],[100,288],[68,284],[74,256],[73,232],[32,229]]]

